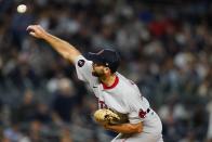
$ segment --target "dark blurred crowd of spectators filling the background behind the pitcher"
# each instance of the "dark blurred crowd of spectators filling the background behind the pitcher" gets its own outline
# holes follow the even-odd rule
[[[26,13],[16,7],[27,5]],[[212,141],[209,0],[0,0],[0,141],[106,142],[96,99],[75,66],[28,36],[40,24],[83,54],[119,51],[163,122],[165,142]]]

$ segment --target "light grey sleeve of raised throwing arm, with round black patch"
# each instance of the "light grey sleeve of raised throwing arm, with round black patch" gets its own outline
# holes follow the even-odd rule
[[[92,85],[96,77],[92,75],[92,61],[88,61],[83,55],[79,55],[75,60],[75,67],[77,70],[78,79]]]

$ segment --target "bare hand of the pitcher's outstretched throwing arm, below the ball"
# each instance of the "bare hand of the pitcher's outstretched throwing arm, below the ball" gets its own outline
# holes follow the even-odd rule
[[[27,31],[29,31],[29,35],[40,39],[44,39],[48,36],[48,33],[40,25],[29,25]]]

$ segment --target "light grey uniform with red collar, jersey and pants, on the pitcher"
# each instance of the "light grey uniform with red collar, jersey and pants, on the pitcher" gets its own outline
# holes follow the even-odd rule
[[[117,77],[112,86],[107,87],[92,75],[92,61],[79,55],[76,61],[77,76],[89,83],[95,96],[98,99],[100,108],[110,108],[121,114],[127,114],[130,124],[143,121],[142,133],[124,135],[120,133],[112,142],[161,142],[162,125],[158,115],[150,108],[148,101],[142,96],[137,86],[116,73]]]

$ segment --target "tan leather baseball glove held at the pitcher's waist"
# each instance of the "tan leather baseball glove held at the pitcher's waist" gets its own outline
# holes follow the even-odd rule
[[[120,117],[110,109],[102,108],[94,113],[94,119],[101,125],[114,125],[120,120]]]

